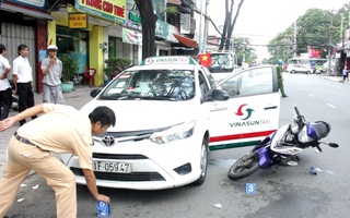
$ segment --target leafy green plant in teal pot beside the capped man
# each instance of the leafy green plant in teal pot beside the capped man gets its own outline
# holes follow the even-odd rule
[[[61,88],[63,93],[69,93],[73,89],[74,83],[71,81],[79,70],[79,63],[77,59],[69,55],[62,55],[58,58],[62,61],[62,83]]]

